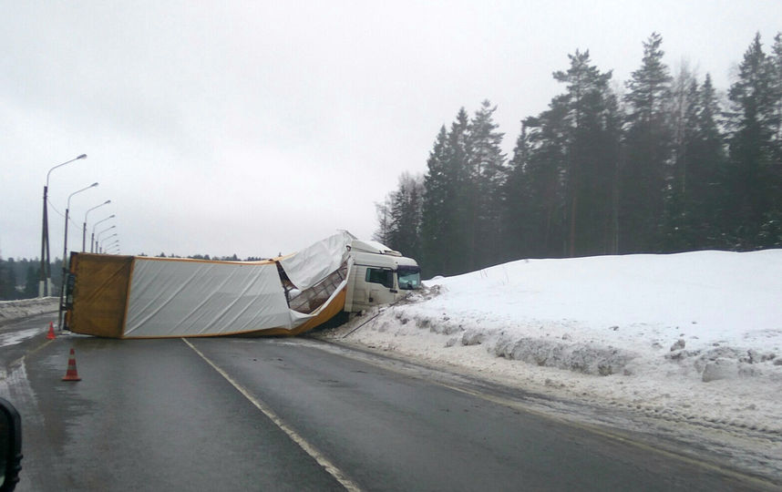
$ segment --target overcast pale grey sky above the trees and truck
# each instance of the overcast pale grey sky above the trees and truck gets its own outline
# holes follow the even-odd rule
[[[589,49],[617,84],[663,36],[715,86],[782,2],[103,2],[0,7],[0,254],[40,254],[52,172],[52,257],[67,196],[87,230],[114,213],[121,252],[292,252],[336,230],[368,238],[374,202],[426,170],[437,130],[488,98],[510,153],[520,119]]]

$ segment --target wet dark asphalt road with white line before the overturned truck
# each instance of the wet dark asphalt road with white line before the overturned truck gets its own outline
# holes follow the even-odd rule
[[[47,320],[0,328],[17,490],[766,487],[314,340],[48,342]],[[64,383],[71,347],[82,381]]]

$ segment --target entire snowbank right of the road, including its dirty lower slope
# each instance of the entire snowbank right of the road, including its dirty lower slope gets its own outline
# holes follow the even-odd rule
[[[322,336],[768,436],[782,461],[782,250],[522,260],[425,285]]]

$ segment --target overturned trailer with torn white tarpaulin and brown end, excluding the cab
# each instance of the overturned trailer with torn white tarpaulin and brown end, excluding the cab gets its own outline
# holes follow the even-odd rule
[[[108,255],[77,253],[72,269],[76,281],[69,328],[75,333],[119,338],[270,330],[281,334],[293,333],[307,323],[311,328],[314,318],[325,314],[330,317],[342,310],[346,281],[339,279],[346,275],[336,282],[330,278],[336,286],[334,291],[326,292],[325,302],[308,313],[291,309],[286,289],[293,292],[292,283],[297,291],[304,292],[345,265],[349,268],[347,246],[352,239],[348,232],[340,232],[285,258],[253,262],[147,257],[112,260]],[[121,271],[119,266],[107,268],[112,261],[130,266]],[[113,305],[122,298],[124,306]],[[104,313],[124,313],[124,319],[116,323],[104,315],[107,319],[98,326]],[[112,316],[116,318],[116,314]]]

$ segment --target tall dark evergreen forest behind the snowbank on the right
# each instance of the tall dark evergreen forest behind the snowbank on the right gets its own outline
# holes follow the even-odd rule
[[[377,241],[425,276],[521,258],[782,247],[782,34],[759,34],[732,85],[664,62],[643,42],[629,80],[568,55],[561,94],[521,119],[503,153],[496,107],[439,129],[424,176],[376,203]]]

